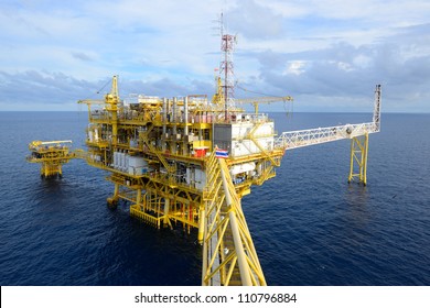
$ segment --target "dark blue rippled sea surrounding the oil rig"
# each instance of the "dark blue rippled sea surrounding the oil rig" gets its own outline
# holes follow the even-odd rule
[[[272,113],[278,132],[368,113]],[[109,210],[103,170],[74,160],[41,179],[33,140],[84,147],[86,112],[0,112],[0,285],[200,285],[196,233]],[[381,116],[367,186],[347,184],[350,141],[288,151],[243,200],[269,285],[430,285],[430,114]]]

